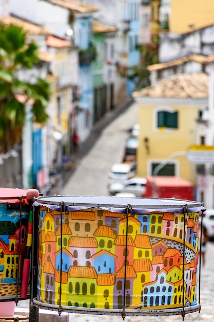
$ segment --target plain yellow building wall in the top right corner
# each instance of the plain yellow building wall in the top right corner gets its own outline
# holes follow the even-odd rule
[[[171,0],[170,32],[186,33],[214,24],[213,0]]]

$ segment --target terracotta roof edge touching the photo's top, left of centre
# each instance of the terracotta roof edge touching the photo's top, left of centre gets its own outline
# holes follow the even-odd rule
[[[74,1],[69,1],[69,0],[46,0],[46,1],[53,4],[53,5],[66,8],[70,11],[74,11],[76,13],[96,12],[99,10],[96,7],[85,6],[85,5],[79,4]]]

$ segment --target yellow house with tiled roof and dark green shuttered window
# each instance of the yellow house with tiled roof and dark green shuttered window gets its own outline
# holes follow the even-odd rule
[[[197,119],[208,103],[208,76],[176,74],[132,93],[140,124],[137,151],[138,176],[175,175],[196,183],[186,152],[197,144]],[[157,175],[157,173],[156,173]]]

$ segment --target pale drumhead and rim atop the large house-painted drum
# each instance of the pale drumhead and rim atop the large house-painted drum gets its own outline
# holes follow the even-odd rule
[[[50,199],[59,199],[59,201],[56,200],[50,200]],[[61,199],[60,199],[61,198]],[[74,199],[79,199],[79,198],[83,198],[82,202],[77,202],[77,201],[73,201],[73,202],[69,202],[66,199],[68,198],[74,198]],[[84,198],[85,201],[87,200],[91,200],[91,202],[84,202]],[[103,200],[103,198],[105,198],[107,201],[112,201],[112,203],[98,203],[99,200]],[[64,199],[64,200],[63,200]],[[124,201],[124,203],[113,203],[113,201]],[[154,203],[152,205],[149,204],[134,204],[134,200],[139,200],[140,201],[160,201],[162,202],[162,204],[157,204]],[[48,195],[48,196],[40,196],[38,198],[35,198],[35,201],[38,204],[47,204],[47,205],[57,205],[60,206],[62,204],[65,204],[67,206],[86,206],[88,208],[90,207],[113,207],[113,208],[125,208],[127,204],[130,204],[133,208],[142,208],[142,209],[153,209],[153,208],[160,208],[160,209],[166,209],[166,208],[183,208],[184,206],[188,206],[190,208],[198,208],[198,207],[204,207],[204,203],[203,202],[197,202],[197,201],[190,201],[190,200],[182,200],[182,199],[175,199],[175,198],[123,198],[123,197],[115,197],[115,196],[68,196],[68,195]],[[94,202],[93,202],[94,201]],[[171,202],[171,204],[164,204],[163,203],[168,201],[169,203]]]

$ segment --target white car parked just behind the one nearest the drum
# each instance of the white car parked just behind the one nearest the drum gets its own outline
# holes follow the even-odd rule
[[[133,177],[135,171],[128,163],[115,163],[108,173],[108,186],[115,182],[123,182]]]

